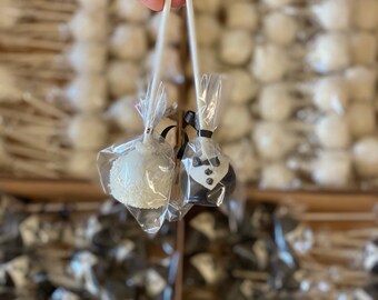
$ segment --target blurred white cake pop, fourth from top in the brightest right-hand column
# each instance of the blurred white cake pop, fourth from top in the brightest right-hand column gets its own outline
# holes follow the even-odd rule
[[[350,144],[348,119],[337,114],[322,117],[315,127],[319,142],[327,149],[346,149]]]

